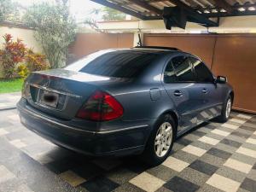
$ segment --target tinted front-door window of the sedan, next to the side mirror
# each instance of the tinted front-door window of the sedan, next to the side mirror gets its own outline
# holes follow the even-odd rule
[[[194,67],[197,81],[212,83],[213,81],[212,73],[206,67],[206,65],[202,61],[194,57],[190,57],[189,59]]]

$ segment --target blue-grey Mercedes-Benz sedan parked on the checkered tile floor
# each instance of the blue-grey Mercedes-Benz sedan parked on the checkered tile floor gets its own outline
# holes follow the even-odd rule
[[[158,165],[175,139],[204,121],[226,121],[234,92],[178,49],[107,49],[31,73],[17,104],[31,131],[90,155],[141,154]]]

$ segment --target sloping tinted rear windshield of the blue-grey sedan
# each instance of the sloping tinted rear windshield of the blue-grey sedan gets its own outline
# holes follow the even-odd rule
[[[79,71],[116,78],[136,78],[157,57],[143,51],[99,51],[66,67]]]

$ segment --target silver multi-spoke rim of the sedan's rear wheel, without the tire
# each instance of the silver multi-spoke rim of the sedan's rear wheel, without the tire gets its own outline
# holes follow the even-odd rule
[[[168,152],[172,143],[172,125],[165,122],[160,125],[154,139],[154,152],[157,156],[163,157]]]

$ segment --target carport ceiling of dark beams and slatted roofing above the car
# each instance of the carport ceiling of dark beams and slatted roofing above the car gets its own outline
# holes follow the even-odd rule
[[[165,7],[179,7],[200,18],[256,15],[256,0],[91,0],[141,20],[162,19]]]

